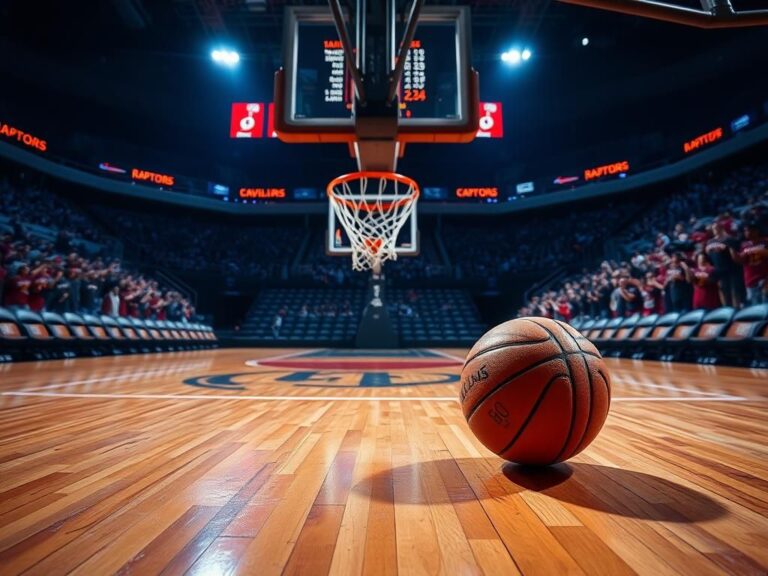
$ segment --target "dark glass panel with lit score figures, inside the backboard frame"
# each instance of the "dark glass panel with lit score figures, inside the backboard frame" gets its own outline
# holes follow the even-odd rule
[[[399,86],[402,124],[451,125],[467,117],[469,49],[463,10],[425,8],[406,55]],[[286,120],[291,124],[351,125],[354,85],[328,11],[298,11],[286,51]],[[402,38],[404,24],[397,26]],[[395,55],[392,55],[392,65]]]

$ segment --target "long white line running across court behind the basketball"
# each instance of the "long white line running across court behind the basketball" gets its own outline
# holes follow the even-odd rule
[[[249,400],[249,401],[293,401],[293,402],[458,402],[455,396],[223,396],[219,394],[76,394],[72,392],[0,392],[0,396],[43,396],[49,398],[115,398],[118,400],[136,398],[139,400]],[[635,398],[619,396],[611,402],[763,402],[762,398],[744,396],[691,396],[689,398],[646,396]]]

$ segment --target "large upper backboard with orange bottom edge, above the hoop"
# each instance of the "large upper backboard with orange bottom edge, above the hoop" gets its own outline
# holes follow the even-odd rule
[[[361,62],[370,45],[370,36],[367,43],[360,38],[364,24],[352,22],[347,12],[343,17],[348,26],[354,24],[363,43],[354,51],[355,65],[365,78],[373,76],[370,63],[365,69]],[[385,43],[387,73],[397,62],[395,38],[402,39],[406,32],[403,17],[393,13],[392,20],[387,29],[392,37]],[[396,140],[400,156],[405,143],[470,142],[477,132],[479,96],[471,67],[469,8],[422,8],[409,46],[394,102],[394,132],[382,140]],[[381,138],[367,133],[379,123],[380,117],[370,118],[379,103],[371,95],[361,103],[330,8],[286,8],[283,52],[284,67],[275,86],[275,131],[281,140],[346,142],[359,156],[355,143]],[[394,163],[396,158],[392,166],[376,169],[394,170]]]

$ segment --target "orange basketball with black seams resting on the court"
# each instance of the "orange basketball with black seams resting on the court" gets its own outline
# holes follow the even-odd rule
[[[592,343],[568,324],[519,318],[484,334],[461,372],[461,407],[489,450],[519,464],[554,464],[589,446],[611,404]]]

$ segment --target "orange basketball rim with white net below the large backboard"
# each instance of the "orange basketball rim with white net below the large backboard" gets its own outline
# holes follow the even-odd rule
[[[419,186],[394,172],[353,172],[328,184],[328,198],[352,244],[352,268],[378,274],[397,260],[397,237],[413,214]]]

